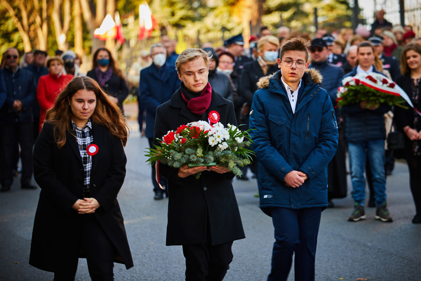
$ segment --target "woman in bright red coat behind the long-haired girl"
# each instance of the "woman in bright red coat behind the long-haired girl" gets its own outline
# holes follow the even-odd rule
[[[54,102],[60,92],[73,78],[73,75],[63,74],[63,60],[59,57],[48,59],[47,68],[49,74],[40,77],[37,88],[37,99],[40,104],[40,131],[47,110],[54,107]]]

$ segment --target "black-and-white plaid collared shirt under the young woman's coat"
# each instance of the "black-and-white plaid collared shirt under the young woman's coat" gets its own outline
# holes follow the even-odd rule
[[[76,123],[72,120],[73,132],[75,132],[76,141],[79,144],[80,157],[82,158],[83,164],[83,195],[89,196],[89,184],[91,181],[91,169],[92,169],[92,156],[88,155],[86,148],[89,144],[94,142],[92,135],[92,123],[89,119],[83,128],[79,128]]]

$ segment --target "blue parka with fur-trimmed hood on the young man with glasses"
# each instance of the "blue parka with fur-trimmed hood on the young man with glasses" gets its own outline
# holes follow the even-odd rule
[[[268,215],[271,207],[327,207],[327,164],[336,152],[338,127],[329,95],[319,86],[321,79],[317,70],[304,73],[295,114],[281,71],[258,82],[250,135],[259,160],[260,207]],[[293,170],[308,176],[297,188],[284,182]]]

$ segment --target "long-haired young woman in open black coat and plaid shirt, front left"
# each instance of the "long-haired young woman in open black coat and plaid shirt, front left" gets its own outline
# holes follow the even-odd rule
[[[40,185],[29,263],[75,280],[86,257],[91,279],[114,280],[114,261],[133,266],[117,194],[125,177],[128,126],[89,77],[69,82],[47,111],[34,147]]]

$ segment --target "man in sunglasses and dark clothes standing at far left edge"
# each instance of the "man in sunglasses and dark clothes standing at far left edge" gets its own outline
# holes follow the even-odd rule
[[[1,149],[2,171],[0,176],[1,191],[10,190],[13,183],[13,168],[16,165],[16,150],[20,145],[22,161],[22,188],[36,188],[32,178],[32,103],[36,100],[36,87],[33,75],[27,69],[18,66],[19,53],[15,48],[6,51],[6,64],[2,76],[6,85],[6,101],[1,108]]]

